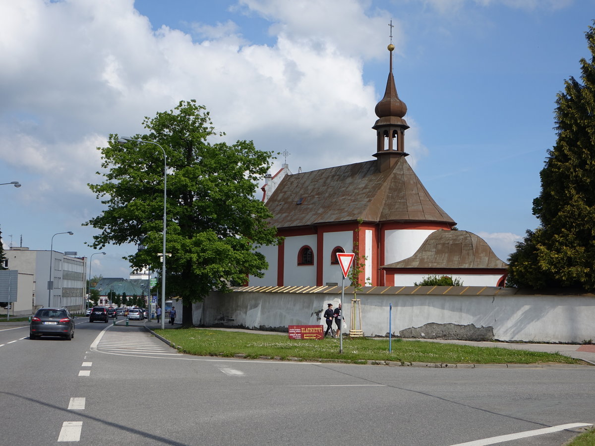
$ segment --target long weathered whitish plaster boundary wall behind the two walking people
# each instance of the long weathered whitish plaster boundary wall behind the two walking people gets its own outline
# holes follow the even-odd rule
[[[494,293],[500,291],[494,290]],[[360,294],[364,296],[361,299],[364,334],[388,334],[389,303],[392,303],[394,335],[402,329],[434,322],[491,326],[494,338],[502,341],[581,343],[595,339],[595,297],[592,296],[442,293],[438,290],[436,294],[419,295]],[[346,295],[343,302],[347,325],[351,297]],[[326,304],[336,305],[339,299],[340,293],[212,293],[201,304],[202,324],[280,331],[286,331],[288,325],[324,325],[321,316]]]

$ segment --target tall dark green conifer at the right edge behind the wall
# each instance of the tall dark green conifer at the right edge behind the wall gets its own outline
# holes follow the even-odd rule
[[[591,57],[580,61],[582,83],[569,78],[556,99],[558,139],[533,200],[540,227],[517,243],[508,285],[595,291],[595,28],[585,36]]]

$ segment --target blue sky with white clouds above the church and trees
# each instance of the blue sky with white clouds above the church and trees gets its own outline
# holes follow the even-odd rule
[[[506,260],[580,76],[595,0],[20,0],[0,4],[0,229],[5,247],[95,252],[81,224],[109,133],[196,99],[224,140],[291,155],[293,172],[372,159],[389,68],[409,163],[458,227]],[[275,161],[275,169],[283,159]],[[108,246],[93,275],[127,277]],[[101,258],[99,258],[101,257]]]

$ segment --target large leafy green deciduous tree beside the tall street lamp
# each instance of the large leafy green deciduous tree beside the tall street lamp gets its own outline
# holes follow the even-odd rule
[[[213,290],[229,291],[248,275],[263,277],[268,264],[256,249],[278,244],[271,213],[254,197],[270,169],[271,152],[251,141],[211,143],[223,133],[195,100],[143,121],[148,133],[134,139],[161,145],[167,153],[167,290],[183,299],[183,324],[192,325],[194,301]],[[164,159],[153,144],[100,147],[105,180],[89,184],[107,209],[86,225],[101,230],[93,248],[142,242],[145,249],[125,257],[132,268],[161,271]]]

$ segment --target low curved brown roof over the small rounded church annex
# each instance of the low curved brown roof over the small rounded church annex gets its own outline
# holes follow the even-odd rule
[[[483,238],[468,231],[437,230],[417,252],[381,268],[506,268]]]

